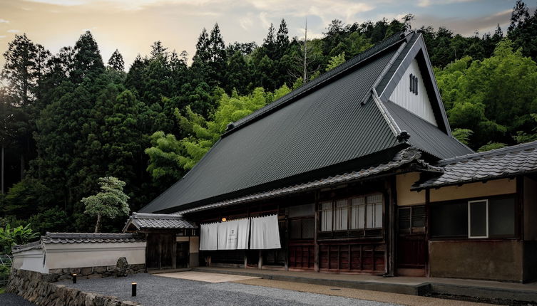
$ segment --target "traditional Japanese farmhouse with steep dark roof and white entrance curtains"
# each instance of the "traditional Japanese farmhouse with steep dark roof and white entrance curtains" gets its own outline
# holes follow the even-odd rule
[[[424,38],[399,33],[230,123],[124,231],[148,268],[533,280],[536,148],[454,139]]]

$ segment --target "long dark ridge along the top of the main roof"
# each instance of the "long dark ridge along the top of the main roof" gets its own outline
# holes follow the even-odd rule
[[[387,48],[390,48],[394,46],[395,44],[403,41],[407,36],[409,36],[412,33],[414,32],[399,31],[397,33],[394,33],[392,36],[389,36],[389,38],[384,39],[384,41],[377,43],[376,45],[372,46],[366,51],[363,51],[362,53],[357,54],[357,56],[354,56],[353,58],[337,66],[337,68],[334,68],[333,70],[329,70],[325,73],[322,73],[321,75],[319,75],[319,77],[315,78],[314,80],[308,83],[305,83],[300,88],[292,90],[292,92],[287,93],[287,95],[280,97],[278,100],[275,100],[274,102],[268,105],[265,105],[264,107],[261,107],[259,110],[252,112],[250,115],[247,115],[246,117],[243,117],[235,122],[232,122],[231,123],[232,127],[230,128],[230,130],[227,130],[226,132],[224,132],[222,134],[222,137],[225,137],[228,134],[232,134],[236,130],[239,130],[237,129],[237,127],[245,126],[249,122],[252,122],[253,120],[257,119],[258,117],[262,117],[262,115],[265,115],[266,113],[271,112],[272,110],[276,110],[280,106],[286,105],[287,102],[291,102],[295,97],[298,97],[304,93],[307,93],[308,91],[314,88],[317,88],[317,86],[322,85],[328,82],[329,80],[336,78],[338,75],[345,73],[347,70],[354,68],[356,65],[359,65],[360,63],[363,63],[365,60],[372,58],[378,53],[385,51]]]

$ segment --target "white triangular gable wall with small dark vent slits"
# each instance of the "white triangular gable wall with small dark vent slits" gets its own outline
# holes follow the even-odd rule
[[[410,91],[410,74],[416,75],[418,78],[418,95]],[[395,87],[389,100],[404,107],[406,110],[418,115],[431,124],[438,126],[434,119],[434,112],[425,89],[424,78],[421,77],[419,65],[415,58],[412,60],[409,68],[404,72],[403,78],[401,78],[399,84]]]

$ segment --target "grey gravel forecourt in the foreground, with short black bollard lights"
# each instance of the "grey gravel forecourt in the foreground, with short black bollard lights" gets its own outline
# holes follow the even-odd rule
[[[138,282],[138,295],[131,297],[131,281]],[[394,305],[348,297],[319,295],[240,283],[205,283],[194,280],[136,274],[127,278],[79,279],[60,282],[86,292],[113,295],[145,306],[172,305]],[[3,305],[0,303],[0,305]]]

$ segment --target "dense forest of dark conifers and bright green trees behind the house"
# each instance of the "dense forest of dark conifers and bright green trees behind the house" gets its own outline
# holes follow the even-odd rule
[[[98,179],[126,183],[136,211],[191,169],[228,123],[409,29],[404,20],[344,24],[322,38],[289,37],[285,20],[255,42],[225,44],[218,24],[196,51],[160,41],[128,69],[116,50],[103,60],[88,31],[51,54],[26,35],[4,53],[0,226],[93,231],[81,199]],[[464,37],[421,27],[454,135],[476,150],[537,139],[537,13],[523,1],[506,33]],[[305,65],[306,63],[306,65]],[[125,217],[103,221],[118,231]]]

